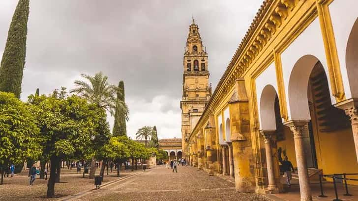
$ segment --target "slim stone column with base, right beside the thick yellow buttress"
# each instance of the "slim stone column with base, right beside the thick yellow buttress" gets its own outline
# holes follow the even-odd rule
[[[273,158],[272,158],[272,149],[271,149],[271,138],[275,134],[276,130],[260,130],[260,133],[264,136],[265,140],[265,151],[266,151],[266,163],[267,163],[267,173],[269,178],[268,191],[269,193],[279,193],[279,190],[275,183],[275,173],[273,169]]]

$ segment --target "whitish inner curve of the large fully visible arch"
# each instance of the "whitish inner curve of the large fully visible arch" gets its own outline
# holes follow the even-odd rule
[[[310,120],[308,105],[308,81],[315,65],[320,60],[310,54],[298,59],[291,71],[288,85],[288,102],[291,120]],[[326,72],[327,75],[327,72]]]

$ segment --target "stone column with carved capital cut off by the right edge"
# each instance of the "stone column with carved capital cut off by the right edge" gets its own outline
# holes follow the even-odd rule
[[[343,102],[339,102],[335,105],[336,107],[343,109],[346,115],[350,117],[354,145],[356,147],[356,155],[358,161],[358,100],[349,99]]]

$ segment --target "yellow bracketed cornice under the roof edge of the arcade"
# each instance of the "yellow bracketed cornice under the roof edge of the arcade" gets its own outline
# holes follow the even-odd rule
[[[212,109],[216,108],[233,88],[235,80],[245,74],[250,64],[269,43],[271,37],[302,2],[303,0],[265,0],[263,2],[192,133],[197,133],[204,126]]]

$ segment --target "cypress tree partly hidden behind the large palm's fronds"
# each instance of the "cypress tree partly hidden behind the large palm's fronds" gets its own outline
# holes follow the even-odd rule
[[[117,94],[117,99],[125,102],[124,100],[124,82],[122,80],[119,81],[118,84],[119,92]],[[127,136],[127,128],[126,128],[126,119],[124,116],[120,115],[116,110],[115,113],[115,124],[113,126],[113,136]]]

